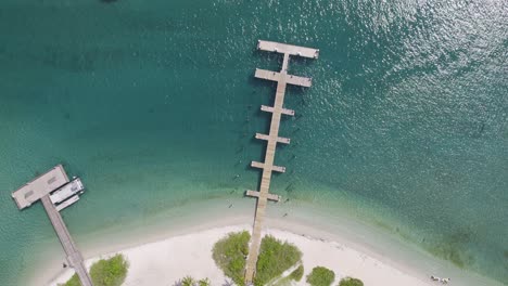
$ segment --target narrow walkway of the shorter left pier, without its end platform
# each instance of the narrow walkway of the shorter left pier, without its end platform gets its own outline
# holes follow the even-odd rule
[[[67,262],[69,266],[74,268],[74,271],[76,271],[79,281],[81,282],[81,286],[92,286],[90,275],[87,272],[87,268],[82,263],[84,259],[81,252],[79,252],[76,244],[73,240],[73,237],[68,233],[62,216],[60,216],[60,212],[56,210],[53,203],[51,203],[49,195],[41,197],[40,200],[42,202],[46,213],[48,213],[51,224],[53,224],[54,232],[59,236],[60,243],[62,244],[62,247],[67,255]]]

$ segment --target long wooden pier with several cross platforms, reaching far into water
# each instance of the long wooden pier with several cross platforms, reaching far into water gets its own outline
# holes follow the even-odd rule
[[[266,154],[265,154],[265,161],[252,161],[251,166],[254,168],[263,169],[262,182],[259,192],[257,191],[247,191],[246,194],[249,196],[257,197],[257,206],[256,206],[256,213],[254,217],[254,227],[251,237],[251,245],[249,249],[249,257],[246,260],[246,268],[245,268],[245,282],[246,284],[252,284],[256,271],[256,263],[257,263],[257,256],[259,253],[259,246],[261,246],[261,233],[263,227],[263,221],[265,219],[265,209],[270,200],[279,200],[279,196],[270,194],[270,181],[271,181],[271,172],[284,172],[284,167],[279,167],[274,165],[275,154],[277,143],[289,144],[290,139],[279,136],[279,126],[280,126],[280,118],[282,114],[294,116],[294,110],[287,109],[283,107],[284,96],[285,96],[285,87],[287,84],[295,84],[301,87],[310,87],[312,79],[305,77],[297,77],[288,75],[288,66],[289,66],[289,58],[290,55],[297,55],[304,56],[309,58],[317,58],[319,55],[319,50],[278,43],[278,42],[270,42],[270,41],[258,41],[257,49],[262,51],[269,51],[269,52],[278,52],[284,55],[282,62],[282,68],[279,73],[265,70],[265,69],[257,69],[255,73],[256,78],[267,79],[271,81],[277,81],[277,91],[274,106],[262,106],[263,112],[271,113],[271,122],[270,122],[270,131],[268,135],[266,134],[256,134],[257,139],[267,141]]]

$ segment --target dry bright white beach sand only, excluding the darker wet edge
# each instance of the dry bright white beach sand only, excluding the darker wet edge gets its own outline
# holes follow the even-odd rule
[[[125,286],[173,285],[186,275],[195,278],[208,277],[212,285],[223,285],[228,278],[212,259],[213,245],[227,233],[251,229],[249,224],[242,224],[199,231],[102,255],[88,259],[86,264],[89,268],[100,258],[120,252],[130,263]],[[373,253],[358,250],[347,244],[313,238],[309,235],[279,229],[267,229],[263,233],[296,245],[303,252],[305,275],[317,265],[333,270],[336,277],[333,285],[345,276],[358,277],[364,281],[365,285],[440,285],[412,275],[404,268],[394,266],[383,259],[376,258]],[[50,285],[56,286],[59,283],[66,282],[73,272],[73,270],[64,271]],[[297,285],[305,285],[304,280]]]

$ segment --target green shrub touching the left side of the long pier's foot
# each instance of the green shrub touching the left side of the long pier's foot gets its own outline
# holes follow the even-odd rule
[[[245,258],[249,255],[249,232],[230,233],[214,245],[212,257],[215,263],[224,271],[224,274],[242,286]]]

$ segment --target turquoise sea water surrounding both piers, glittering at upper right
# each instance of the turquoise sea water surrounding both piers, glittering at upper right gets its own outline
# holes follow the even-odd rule
[[[274,86],[252,75],[281,61],[257,39],[321,50],[290,64],[314,86],[289,89],[300,116],[282,123],[292,144],[276,193],[351,198],[377,225],[508,283],[506,2],[358,2],[2,1],[1,284],[23,285],[55,239],[40,206],[18,212],[10,198],[55,164],[88,187],[64,212],[78,240],[255,188],[246,166],[262,159],[252,138]]]

